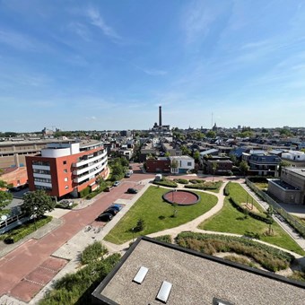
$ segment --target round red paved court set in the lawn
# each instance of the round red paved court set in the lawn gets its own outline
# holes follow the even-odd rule
[[[200,196],[196,193],[182,189],[173,189],[165,193],[162,198],[171,205],[195,205],[200,200]]]

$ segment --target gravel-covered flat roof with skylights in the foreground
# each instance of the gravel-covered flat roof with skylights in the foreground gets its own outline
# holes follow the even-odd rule
[[[133,280],[141,266],[143,283]],[[93,304],[161,304],[163,281],[172,284],[169,304],[301,304],[305,284],[147,237],[139,238],[92,293]]]

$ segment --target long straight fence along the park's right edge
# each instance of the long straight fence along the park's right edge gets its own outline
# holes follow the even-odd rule
[[[246,179],[246,184],[250,187],[257,196],[260,196],[266,203],[274,208],[275,213],[279,213],[296,231],[298,231],[302,237],[305,238],[305,225],[298,221],[297,218],[293,217],[290,213],[287,213],[281,205],[279,205],[273,198],[268,196],[265,192],[260,190],[253,182],[248,178]]]

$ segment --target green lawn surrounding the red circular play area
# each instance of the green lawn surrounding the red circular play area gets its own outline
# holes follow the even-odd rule
[[[105,240],[116,244],[132,240],[132,228],[135,227],[136,222],[140,218],[144,219],[144,231],[135,233],[135,237],[174,228],[194,220],[196,217],[209,211],[217,203],[216,196],[203,192],[195,192],[201,197],[201,200],[196,205],[178,205],[175,207],[178,211],[177,216],[172,217],[174,212],[173,206],[163,202],[161,198],[168,191],[168,189],[162,187],[149,187],[120,222],[109,231]]]

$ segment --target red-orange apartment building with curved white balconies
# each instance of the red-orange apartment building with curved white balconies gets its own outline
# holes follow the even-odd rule
[[[85,187],[99,187],[108,175],[108,156],[99,141],[53,143],[26,157],[30,190],[45,189],[50,196],[77,197]]]

